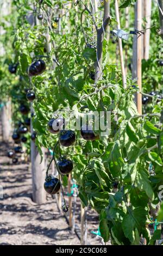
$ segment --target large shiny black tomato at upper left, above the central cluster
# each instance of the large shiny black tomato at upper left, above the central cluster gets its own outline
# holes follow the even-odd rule
[[[46,64],[42,59],[36,60],[29,67],[29,76],[41,75],[46,70]]]

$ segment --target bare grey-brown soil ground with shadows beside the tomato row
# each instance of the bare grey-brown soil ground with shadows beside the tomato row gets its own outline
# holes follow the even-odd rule
[[[1,130],[1,129],[0,129]],[[32,202],[32,179],[29,163],[12,164],[8,159],[8,144],[0,136],[0,245],[80,245],[76,234],[59,214],[55,199],[42,205]],[[80,227],[80,208],[77,205]],[[101,245],[101,239],[91,234],[98,229],[98,216],[89,211],[87,244]]]

